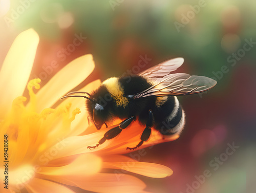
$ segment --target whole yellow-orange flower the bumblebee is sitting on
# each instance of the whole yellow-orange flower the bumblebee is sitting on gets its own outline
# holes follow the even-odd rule
[[[127,153],[127,146],[138,143],[143,128],[137,122],[118,137],[88,149],[111,127],[97,131],[89,124],[84,100],[78,98],[68,98],[55,109],[50,107],[89,76],[93,58],[84,55],[73,60],[40,89],[40,79],[27,84],[38,42],[34,30],[20,33],[0,72],[0,143],[6,147],[1,147],[1,163],[6,165],[1,164],[0,176],[10,192],[75,192],[71,186],[95,192],[145,192],[140,179],[123,171],[152,178],[172,175],[166,166],[120,155]],[[67,78],[70,73],[76,76]],[[26,85],[30,100],[25,105],[27,98],[22,95]],[[95,80],[80,91],[91,92],[99,85]],[[33,89],[40,90],[35,94]],[[140,148],[177,138],[162,139],[154,131]]]

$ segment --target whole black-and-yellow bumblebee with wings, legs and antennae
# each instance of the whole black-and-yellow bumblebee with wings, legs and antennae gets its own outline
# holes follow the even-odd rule
[[[185,114],[176,96],[201,93],[213,88],[217,81],[204,76],[173,73],[184,62],[183,58],[166,60],[137,75],[112,77],[103,81],[92,93],[71,92],[62,97],[86,98],[90,120],[100,130],[114,119],[122,121],[106,132],[95,146],[118,136],[123,129],[137,120],[144,126],[140,142],[134,150],[147,141],[152,128],[163,136],[180,134],[185,124]],[[84,95],[73,95],[73,94]],[[86,96],[87,95],[87,96]],[[129,128],[127,128],[129,129]]]

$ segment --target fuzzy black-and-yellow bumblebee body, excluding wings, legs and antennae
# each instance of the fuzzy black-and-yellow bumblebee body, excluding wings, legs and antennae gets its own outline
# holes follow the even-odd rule
[[[154,115],[155,130],[163,135],[180,133],[184,126],[184,112],[176,96],[133,99],[135,94],[153,85],[154,82],[139,75],[112,77],[105,80],[90,94],[94,100],[86,101],[91,120],[93,120],[93,109],[96,104],[100,104],[104,109],[97,113],[100,121],[95,125],[97,128],[100,128],[104,122],[111,123],[115,118],[124,120],[128,117],[134,117],[141,125],[145,125],[148,112],[151,110]]]

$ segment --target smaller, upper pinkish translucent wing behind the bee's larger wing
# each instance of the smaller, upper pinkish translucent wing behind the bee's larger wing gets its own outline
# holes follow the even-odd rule
[[[159,63],[159,65],[156,65],[139,73],[138,75],[146,76],[147,78],[164,77],[165,75],[179,68],[183,62],[184,58],[174,58],[166,60],[164,62]]]

